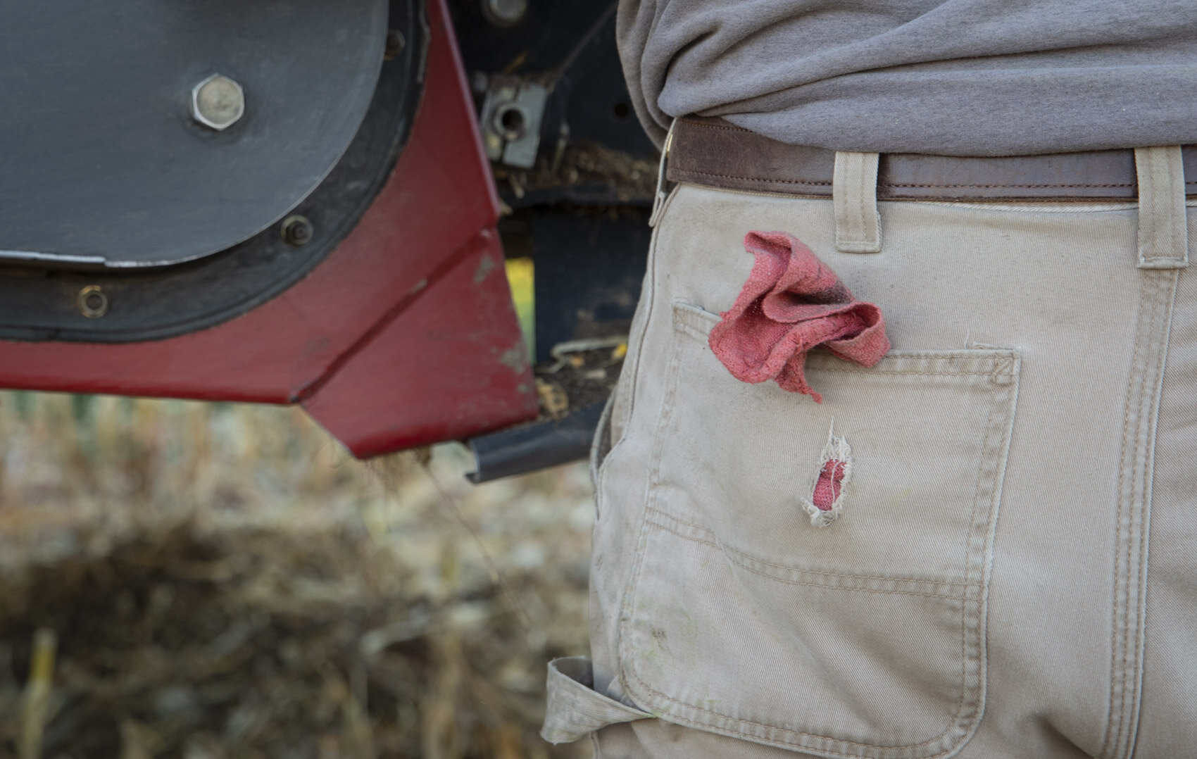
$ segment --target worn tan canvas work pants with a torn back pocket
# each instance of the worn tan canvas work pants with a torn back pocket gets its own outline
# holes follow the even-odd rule
[[[679,187],[596,444],[594,663],[552,667],[546,737],[597,730],[612,759],[1197,755],[1178,153],[1141,165],[1142,211],[882,202],[879,253],[837,249],[831,200]],[[707,346],[753,230],[885,314],[876,366],[812,354],[821,405]],[[852,475],[816,527],[832,430]]]

